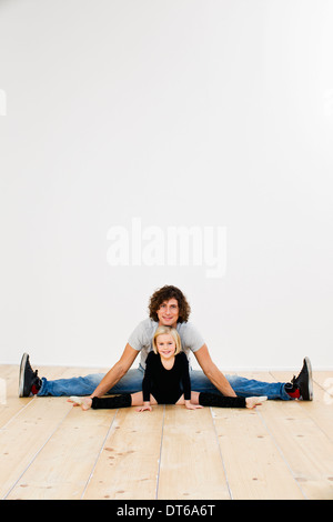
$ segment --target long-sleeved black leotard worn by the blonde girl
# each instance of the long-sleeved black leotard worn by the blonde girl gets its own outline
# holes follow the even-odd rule
[[[171,370],[165,370],[160,354],[150,352],[145,360],[142,392],[144,402],[150,400],[150,394],[159,404],[175,404],[183,393],[184,399],[190,400],[191,381],[185,353],[178,353]]]

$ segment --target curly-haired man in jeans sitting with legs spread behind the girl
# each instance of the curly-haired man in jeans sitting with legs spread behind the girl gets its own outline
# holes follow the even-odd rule
[[[239,375],[223,375],[212,361],[203,338],[188,322],[191,313],[190,304],[176,287],[165,285],[157,290],[150,298],[149,318],[139,323],[129,338],[119,361],[105,374],[89,374],[72,379],[49,381],[40,379],[33,371],[28,353],[24,353],[20,365],[19,395],[89,395],[134,393],[142,389],[145,359],[152,350],[152,338],[161,324],[176,328],[183,351],[190,358],[194,353],[202,370],[191,370],[191,388],[199,392],[220,392],[226,396],[262,396],[269,399],[303,399],[312,401],[312,369],[309,358],[303,361],[303,368],[297,378],[291,382],[263,382],[245,379]],[[140,353],[138,369],[131,369]]]

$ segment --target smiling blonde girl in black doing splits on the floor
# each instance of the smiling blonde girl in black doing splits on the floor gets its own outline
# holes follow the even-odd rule
[[[137,411],[152,411],[152,404],[183,404],[189,410],[203,406],[255,408],[266,396],[224,396],[191,391],[189,361],[182,352],[175,328],[159,327],[153,337],[153,351],[148,354],[142,392],[102,398],[71,396],[69,402],[82,410],[139,406]]]

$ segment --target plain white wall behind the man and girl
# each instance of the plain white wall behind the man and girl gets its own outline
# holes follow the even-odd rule
[[[222,370],[333,368],[332,27],[324,0],[0,2],[0,363],[111,367],[174,284]],[[111,265],[133,219],[143,247],[222,228],[225,272]]]

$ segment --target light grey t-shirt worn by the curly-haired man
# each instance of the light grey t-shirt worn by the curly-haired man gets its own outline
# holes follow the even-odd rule
[[[140,351],[140,364],[145,369],[145,359],[152,348],[152,339],[159,327],[157,321],[148,318],[141,321],[135,330],[131,333],[129,338],[129,344],[134,348],[134,350]],[[203,344],[204,340],[198,330],[189,322],[181,322],[176,324],[176,331],[181,338],[182,350],[190,359],[190,352],[196,352]]]

